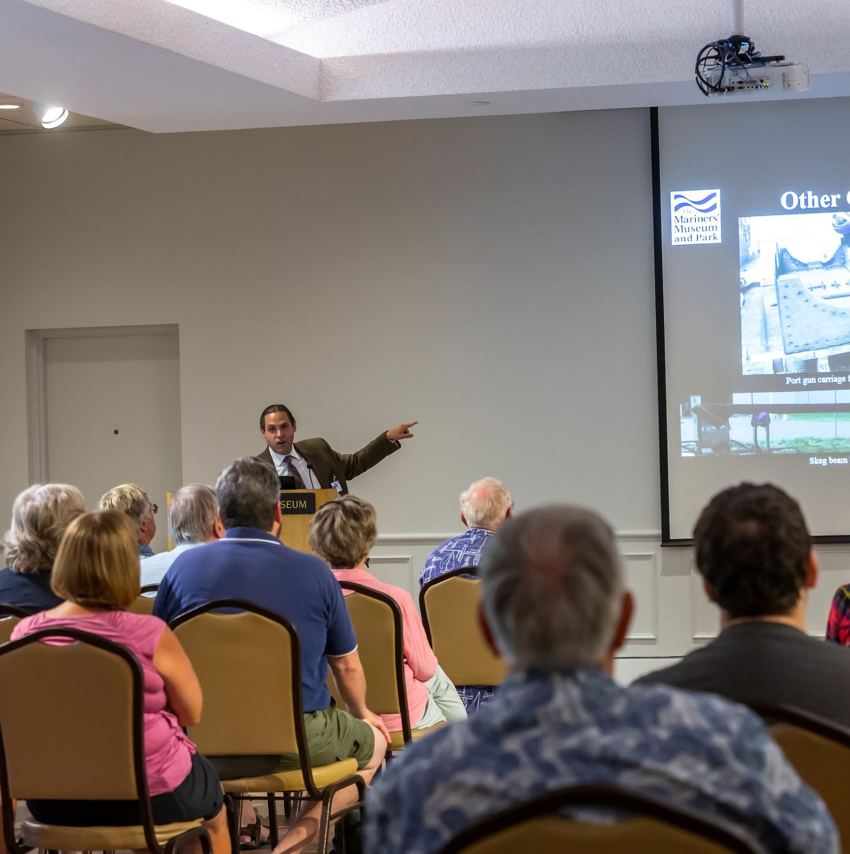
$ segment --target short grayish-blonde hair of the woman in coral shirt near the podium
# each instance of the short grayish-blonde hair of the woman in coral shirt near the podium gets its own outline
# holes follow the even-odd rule
[[[310,522],[311,549],[335,569],[351,569],[378,538],[375,507],[353,495],[319,507]]]

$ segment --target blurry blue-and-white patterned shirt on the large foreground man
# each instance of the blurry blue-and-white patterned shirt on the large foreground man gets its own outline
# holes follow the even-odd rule
[[[536,795],[619,785],[747,834],[766,854],[838,854],[823,801],[753,712],[711,694],[620,687],[602,670],[509,676],[476,715],[405,748],[370,788],[370,854],[429,854]],[[604,810],[574,817],[610,822]]]

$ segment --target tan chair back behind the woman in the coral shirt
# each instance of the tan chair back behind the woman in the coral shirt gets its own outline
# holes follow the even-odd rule
[[[404,705],[406,714],[405,653],[403,639],[398,631],[401,628],[399,605],[386,594],[376,590],[359,585],[349,586],[344,582],[341,587],[343,590],[357,590],[355,593],[346,594],[346,605],[352,618],[354,634],[357,635],[360,663],[363,664],[366,675],[366,705],[376,715],[400,715]],[[397,656],[400,656],[400,661],[397,661]],[[400,697],[399,664],[402,668]]]

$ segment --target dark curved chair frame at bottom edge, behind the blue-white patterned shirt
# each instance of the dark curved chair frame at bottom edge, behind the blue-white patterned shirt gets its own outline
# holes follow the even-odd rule
[[[600,806],[624,810],[639,816],[655,818],[673,827],[697,834],[704,839],[725,845],[734,854],[759,854],[743,834],[719,822],[714,822],[693,810],[667,804],[649,795],[616,786],[568,786],[554,789],[521,804],[515,804],[495,815],[486,816],[453,836],[439,854],[461,854],[488,836],[539,816],[548,816],[571,806]],[[564,819],[569,822],[569,818]]]

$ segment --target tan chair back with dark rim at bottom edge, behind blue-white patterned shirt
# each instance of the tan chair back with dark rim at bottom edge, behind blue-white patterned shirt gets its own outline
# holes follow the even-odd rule
[[[634,817],[596,824],[553,815],[579,805]],[[440,854],[757,854],[759,850],[742,832],[674,804],[620,787],[574,786],[475,822]]]

